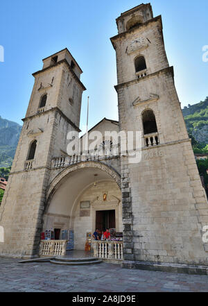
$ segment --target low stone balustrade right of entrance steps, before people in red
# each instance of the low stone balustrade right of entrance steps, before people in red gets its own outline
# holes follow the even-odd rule
[[[102,260],[123,260],[123,241],[92,241],[94,257]]]

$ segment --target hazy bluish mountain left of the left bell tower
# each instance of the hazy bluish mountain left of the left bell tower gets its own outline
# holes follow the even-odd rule
[[[0,167],[10,167],[15,156],[21,126],[0,116]]]

